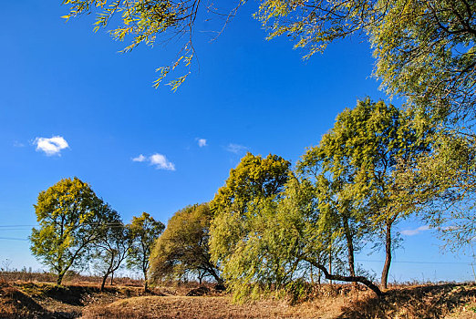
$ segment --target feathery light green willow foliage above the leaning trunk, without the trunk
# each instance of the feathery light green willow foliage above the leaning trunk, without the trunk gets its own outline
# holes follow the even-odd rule
[[[282,196],[249,203],[247,228],[222,260],[222,275],[243,301],[265,294],[290,294],[299,299],[312,272],[305,258],[323,261],[328,236],[316,232],[316,199],[309,182],[288,181]],[[221,222],[231,214],[218,216]],[[297,289],[299,287],[299,289]]]

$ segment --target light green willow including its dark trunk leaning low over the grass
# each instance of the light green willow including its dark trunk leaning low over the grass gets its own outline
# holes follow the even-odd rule
[[[328,280],[363,283],[378,296],[382,294],[365,276],[345,274],[345,242],[337,235],[338,225],[327,218],[327,211],[319,210],[316,187],[310,180],[291,177],[277,199],[252,201],[247,211],[243,240],[222,262],[233,298],[274,293],[298,300],[310,293],[310,283],[319,272]],[[235,217],[240,219],[238,214]],[[229,219],[233,221],[233,215]],[[215,244],[228,249],[228,242]],[[332,270],[326,268],[330,259]]]

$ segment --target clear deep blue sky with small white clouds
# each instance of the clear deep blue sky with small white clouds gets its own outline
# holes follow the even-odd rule
[[[253,3],[216,41],[198,33],[200,69],[176,93],[154,89],[174,47],[121,55],[127,44],[94,34],[93,16],[65,23],[60,2],[9,1],[0,11],[0,262],[11,267],[42,267],[28,242],[5,238],[27,238],[38,192],[62,178],[88,181],[125,221],[147,211],[166,222],[210,201],[246,151],[295,162],[357,98],[387,100],[365,39],[303,61],[288,39],[264,40]],[[404,248],[390,280],[471,280],[470,256],[440,254],[424,228],[405,232],[421,226],[399,224]],[[381,272],[382,253],[357,260]]]

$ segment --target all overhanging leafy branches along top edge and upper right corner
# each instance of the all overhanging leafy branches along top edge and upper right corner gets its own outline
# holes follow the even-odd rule
[[[183,36],[181,54],[170,67],[160,67],[160,80],[171,70],[188,67],[171,81],[176,89],[190,74],[194,55],[194,22],[206,14],[233,17],[243,1],[222,12],[197,0],[171,3],[153,0],[63,0],[69,18],[98,10],[95,30],[107,27],[113,15],[120,23],[111,30],[119,40],[132,36],[129,51],[140,43],[153,45],[169,35]],[[409,97],[419,108],[438,116],[474,118],[476,4],[468,0],[262,0],[257,17],[268,38],[291,36],[305,57],[322,52],[347,36],[367,34],[377,58],[374,75],[390,94]],[[203,16],[208,18],[207,16]]]

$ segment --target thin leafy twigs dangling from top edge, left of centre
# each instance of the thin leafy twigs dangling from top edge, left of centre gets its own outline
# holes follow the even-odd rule
[[[169,43],[176,38],[180,43],[176,59],[169,66],[157,68],[160,76],[154,81],[153,87],[159,87],[161,81],[171,71],[181,68],[181,76],[172,79],[168,86],[176,91],[191,73],[191,62],[195,57],[192,44],[195,19],[201,9],[199,0],[63,0],[63,5],[69,6],[69,14],[63,18],[69,19],[78,15],[97,12],[94,32],[100,28],[108,28],[109,34],[115,40],[131,39],[129,46],[121,52],[129,52],[140,44],[154,46],[155,44]],[[241,1],[228,12],[230,19]],[[227,15],[217,10],[214,5],[206,8],[207,14]],[[114,16],[119,15],[119,22],[112,22]],[[226,22],[225,22],[226,24]]]

